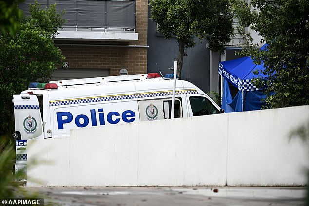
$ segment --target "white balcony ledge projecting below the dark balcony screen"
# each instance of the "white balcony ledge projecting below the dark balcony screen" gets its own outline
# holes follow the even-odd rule
[[[135,32],[104,32],[104,31],[58,31],[55,40],[76,41],[137,41]]]

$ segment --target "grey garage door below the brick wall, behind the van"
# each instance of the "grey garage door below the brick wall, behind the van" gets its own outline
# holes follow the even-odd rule
[[[109,69],[58,68],[50,81],[109,76]]]

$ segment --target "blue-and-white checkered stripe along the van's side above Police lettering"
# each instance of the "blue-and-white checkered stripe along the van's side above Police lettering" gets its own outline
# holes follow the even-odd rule
[[[176,95],[179,94],[198,94],[198,92],[193,90],[181,90],[176,91]],[[93,103],[93,102],[104,102],[104,101],[115,101],[115,100],[124,100],[124,99],[138,99],[145,97],[157,97],[157,96],[171,96],[172,91],[163,91],[163,92],[154,92],[154,93],[141,93],[141,94],[127,94],[127,95],[116,95],[116,96],[102,96],[102,97],[93,97],[93,98],[84,98],[84,99],[72,99],[72,100],[63,100],[50,102],[49,106],[59,106],[59,105],[72,105],[72,104],[82,104],[82,103]]]

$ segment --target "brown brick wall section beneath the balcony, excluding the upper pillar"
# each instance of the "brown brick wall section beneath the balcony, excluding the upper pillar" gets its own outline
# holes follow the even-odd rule
[[[58,45],[69,68],[110,69],[110,75],[119,75],[126,68],[129,75],[147,72],[147,48],[121,46]]]

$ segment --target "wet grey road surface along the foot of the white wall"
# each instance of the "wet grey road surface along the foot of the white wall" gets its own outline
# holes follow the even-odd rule
[[[305,206],[307,187],[25,187],[62,206]],[[45,204],[46,205],[46,204]]]

